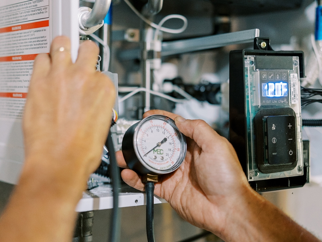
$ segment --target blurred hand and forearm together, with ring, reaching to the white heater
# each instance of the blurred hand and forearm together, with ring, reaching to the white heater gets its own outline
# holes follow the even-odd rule
[[[57,37],[50,55],[35,59],[23,117],[25,162],[0,219],[0,241],[71,241],[75,207],[99,166],[115,89],[96,71],[95,43],[80,45],[75,64],[70,45]]]

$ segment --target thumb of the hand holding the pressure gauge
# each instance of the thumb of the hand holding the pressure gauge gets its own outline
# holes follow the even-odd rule
[[[190,120],[177,116],[175,124],[181,133],[193,139],[203,150],[210,150],[216,143],[222,142],[221,136],[204,120]]]

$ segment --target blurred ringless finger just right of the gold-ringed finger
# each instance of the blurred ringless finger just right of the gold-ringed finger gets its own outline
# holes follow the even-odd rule
[[[99,48],[93,41],[84,41],[78,49],[76,64],[81,65],[82,68],[89,67],[90,69],[95,71],[98,54]]]

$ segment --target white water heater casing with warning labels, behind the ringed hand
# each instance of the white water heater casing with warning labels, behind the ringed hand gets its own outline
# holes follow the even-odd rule
[[[57,35],[79,45],[79,0],[0,1],[0,180],[16,183],[24,162],[22,116],[37,54]],[[44,154],[45,155],[45,154]]]

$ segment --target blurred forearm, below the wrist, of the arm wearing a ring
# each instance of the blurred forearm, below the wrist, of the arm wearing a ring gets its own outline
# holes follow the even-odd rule
[[[75,207],[86,177],[71,175],[71,172],[84,174],[77,167],[65,168],[56,169],[46,161],[24,167],[0,219],[0,241],[71,241]]]

